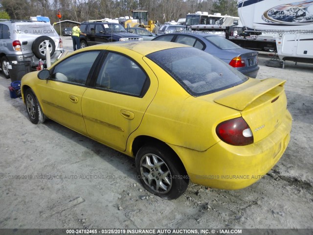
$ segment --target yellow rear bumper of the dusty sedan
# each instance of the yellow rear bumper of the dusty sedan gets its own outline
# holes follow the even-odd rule
[[[221,188],[246,188],[261,179],[279,161],[290,141],[291,115],[266,139],[246,146],[220,141],[199,152],[170,145],[182,160],[190,180],[199,185]]]

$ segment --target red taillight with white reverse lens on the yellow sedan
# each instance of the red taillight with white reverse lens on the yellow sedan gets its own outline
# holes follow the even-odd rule
[[[216,127],[218,137],[231,145],[243,146],[253,143],[253,135],[245,119],[234,118],[223,121]]]

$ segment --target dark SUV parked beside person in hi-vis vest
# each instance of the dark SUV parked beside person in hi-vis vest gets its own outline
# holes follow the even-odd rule
[[[80,30],[87,36],[80,35],[81,47],[88,47],[100,43],[118,41],[142,41],[142,37],[128,33],[121,24],[109,22],[83,22]]]

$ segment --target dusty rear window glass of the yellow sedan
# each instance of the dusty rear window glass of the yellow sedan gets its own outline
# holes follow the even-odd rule
[[[194,47],[156,51],[147,57],[193,96],[223,91],[248,79],[218,58]]]

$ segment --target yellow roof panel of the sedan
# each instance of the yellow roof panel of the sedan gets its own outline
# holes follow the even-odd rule
[[[142,55],[147,55],[159,50],[166,50],[175,47],[190,47],[180,43],[162,42],[162,41],[131,41],[131,42],[114,42],[100,44],[91,47],[85,47],[84,50],[92,49],[114,49],[123,47],[125,49],[136,51]]]

